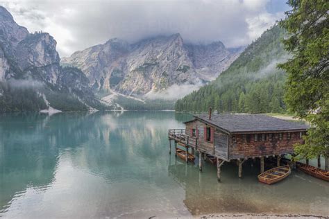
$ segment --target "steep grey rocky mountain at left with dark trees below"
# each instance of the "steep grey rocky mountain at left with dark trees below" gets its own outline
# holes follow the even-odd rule
[[[0,112],[112,109],[76,68],[62,68],[56,40],[28,33],[0,6]]]

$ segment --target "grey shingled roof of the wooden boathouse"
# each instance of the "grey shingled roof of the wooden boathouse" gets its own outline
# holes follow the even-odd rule
[[[211,120],[208,114],[203,114],[194,115],[194,118],[230,133],[303,131],[310,128],[308,125],[264,114],[212,114]]]

